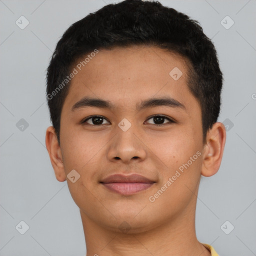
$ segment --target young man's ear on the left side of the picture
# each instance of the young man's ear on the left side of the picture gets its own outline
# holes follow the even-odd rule
[[[56,179],[58,181],[66,180],[60,145],[58,144],[57,135],[53,126],[49,126],[46,129],[45,145],[49,153],[51,165],[54,169]]]

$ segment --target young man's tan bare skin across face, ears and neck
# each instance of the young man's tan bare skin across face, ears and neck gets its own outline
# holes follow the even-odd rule
[[[178,80],[169,72],[182,71]],[[220,166],[225,128],[220,122],[202,138],[201,109],[187,85],[186,61],[153,46],[99,50],[71,80],[60,120],[60,145],[52,126],[45,143],[57,180],[67,180],[80,208],[87,256],[169,255],[206,256],[210,252],[195,235],[195,205],[200,176]],[[71,107],[84,96],[109,100],[113,109]],[[170,96],[181,107],[155,106],[136,110],[136,103]],[[163,114],[157,125],[151,115]],[[101,115],[103,124],[87,116]],[[118,123],[131,126],[123,131]],[[201,154],[153,202],[154,195],[197,151]],[[118,157],[116,157],[118,156]],[[66,175],[75,169],[80,178]],[[113,173],[138,173],[155,183],[132,195],[106,189],[100,180]],[[128,231],[119,225],[126,221]]]

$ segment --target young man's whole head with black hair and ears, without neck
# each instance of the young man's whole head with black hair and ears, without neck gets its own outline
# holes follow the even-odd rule
[[[195,205],[200,175],[213,175],[220,165],[221,87],[214,45],[187,15],[142,0],[88,14],[65,31],[47,69],[53,126],[46,146],[56,178],[63,181],[75,169],[79,179],[67,179],[74,201],[112,229],[123,219],[145,230],[148,222],[188,214],[184,209]],[[102,187],[113,173],[138,173],[154,184],[120,197]],[[159,189],[164,192],[154,196]],[[164,202],[161,218],[148,216]]]

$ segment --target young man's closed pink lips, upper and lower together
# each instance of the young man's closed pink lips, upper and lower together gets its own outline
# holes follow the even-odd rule
[[[104,178],[100,183],[113,192],[131,195],[149,188],[155,181],[139,174],[113,174]]]

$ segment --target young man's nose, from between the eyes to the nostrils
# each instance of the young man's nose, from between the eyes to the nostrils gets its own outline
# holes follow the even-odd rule
[[[135,124],[125,118],[118,123],[115,128],[115,136],[111,140],[108,148],[107,157],[109,160],[122,160],[129,162],[133,159],[144,159],[146,155],[143,143],[138,139]]]

